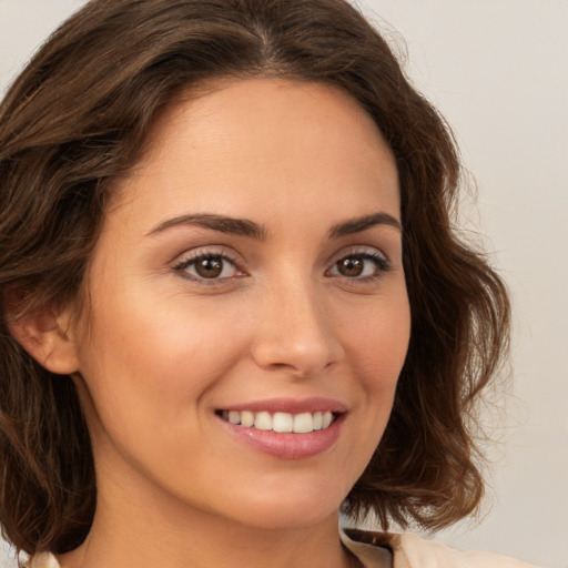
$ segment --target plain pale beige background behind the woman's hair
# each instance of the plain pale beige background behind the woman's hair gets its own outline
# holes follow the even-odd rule
[[[0,91],[82,3],[0,0]],[[465,219],[514,294],[486,518],[437,538],[568,568],[568,1],[358,3],[400,52],[405,38],[409,77],[453,125],[478,185]],[[1,551],[0,565],[12,566]]]

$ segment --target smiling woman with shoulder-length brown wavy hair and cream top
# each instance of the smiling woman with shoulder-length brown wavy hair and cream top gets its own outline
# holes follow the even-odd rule
[[[94,0],[0,110],[0,518],[29,566],[521,566],[483,496],[508,300],[453,138],[343,0]]]

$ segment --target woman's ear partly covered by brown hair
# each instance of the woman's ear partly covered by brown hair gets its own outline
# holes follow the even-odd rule
[[[51,373],[70,375],[79,369],[70,308],[55,311],[44,306],[9,326],[22,347]]]

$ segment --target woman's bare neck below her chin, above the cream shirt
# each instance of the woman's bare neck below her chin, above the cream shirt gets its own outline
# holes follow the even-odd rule
[[[60,557],[62,568],[358,566],[341,545],[337,511],[308,525],[265,528],[263,521],[244,525],[163,494],[128,493],[119,497],[99,488],[92,529],[81,547]]]

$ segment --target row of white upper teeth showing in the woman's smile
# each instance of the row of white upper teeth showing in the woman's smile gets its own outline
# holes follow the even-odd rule
[[[248,410],[217,410],[215,414],[235,426],[294,434],[310,434],[324,430],[338,416],[329,410],[300,414],[268,413],[265,410],[257,413]]]

